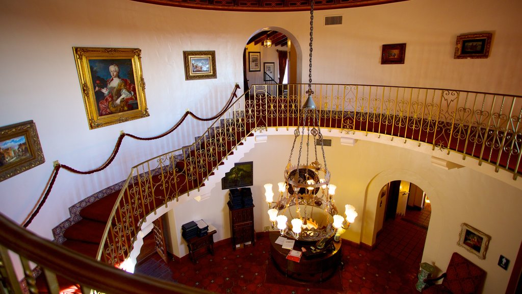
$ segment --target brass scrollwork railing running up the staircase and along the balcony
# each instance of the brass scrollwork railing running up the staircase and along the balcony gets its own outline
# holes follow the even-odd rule
[[[233,101],[191,146],[132,168],[113,208],[98,259],[118,265],[132,250],[140,225],[156,208],[199,189],[255,130],[298,125],[307,85],[254,85]],[[431,144],[478,163],[522,173],[519,96],[370,85],[314,84],[324,129],[377,133]]]

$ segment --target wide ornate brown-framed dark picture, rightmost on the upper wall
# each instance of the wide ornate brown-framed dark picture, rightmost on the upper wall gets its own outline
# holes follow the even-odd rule
[[[474,33],[457,37],[454,59],[488,58],[492,33]]]

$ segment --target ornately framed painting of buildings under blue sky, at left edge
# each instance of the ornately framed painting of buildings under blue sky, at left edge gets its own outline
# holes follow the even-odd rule
[[[32,120],[0,128],[0,182],[45,162]]]

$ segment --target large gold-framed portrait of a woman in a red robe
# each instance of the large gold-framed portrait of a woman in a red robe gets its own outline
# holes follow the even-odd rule
[[[148,117],[141,50],[73,47],[89,128]]]

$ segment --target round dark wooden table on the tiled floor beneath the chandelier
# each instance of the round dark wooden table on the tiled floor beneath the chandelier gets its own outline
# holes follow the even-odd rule
[[[325,250],[325,252],[315,255],[303,255],[299,262],[287,259],[290,252],[289,249],[282,248],[276,244],[280,233],[278,231],[270,232],[270,256],[276,268],[286,277],[303,283],[323,282],[331,278],[341,264],[341,243],[334,242],[333,250]],[[310,246],[315,246],[315,242],[295,241],[294,250],[303,251],[304,247],[307,251],[311,251]]]

